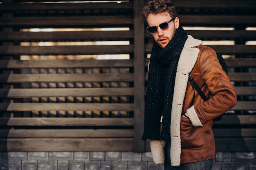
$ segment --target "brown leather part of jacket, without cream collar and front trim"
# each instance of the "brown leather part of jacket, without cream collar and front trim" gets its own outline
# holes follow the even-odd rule
[[[194,91],[188,82],[183,112],[187,111],[188,115],[195,112],[203,126],[195,127],[190,119],[182,117],[181,163],[201,161],[215,156],[212,119],[233,108],[237,102],[234,87],[227,74],[222,71],[215,51],[202,45],[196,48],[200,49],[200,53],[191,76],[209,100],[204,102],[195,91],[194,108],[189,109]]]

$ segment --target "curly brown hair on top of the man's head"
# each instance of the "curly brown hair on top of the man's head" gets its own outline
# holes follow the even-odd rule
[[[144,4],[141,13],[146,19],[150,13],[164,13],[167,12],[171,15],[171,18],[178,15],[176,7],[171,0],[148,0]]]

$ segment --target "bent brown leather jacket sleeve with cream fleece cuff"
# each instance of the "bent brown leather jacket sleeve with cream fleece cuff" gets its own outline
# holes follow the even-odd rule
[[[197,99],[200,97],[197,95],[194,102],[195,106],[187,109],[189,117],[192,118],[192,124],[198,119],[204,124],[230,110],[237,103],[234,87],[225,71],[222,70],[216,52],[206,47],[199,55],[200,74],[204,84],[206,84],[209,100],[203,102],[201,98]],[[200,102],[198,102],[199,100]]]

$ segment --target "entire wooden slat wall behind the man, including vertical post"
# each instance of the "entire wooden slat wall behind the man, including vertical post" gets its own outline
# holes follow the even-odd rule
[[[148,142],[140,139],[146,56],[153,44],[140,13],[144,1],[26,2],[0,4],[0,149],[149,151]],[[208,45],[227,57],[238,96],[238,104],[214,123],[216,149],[256,151],[256,46],[246,44],[256,41],[256,31],[246,30],[256,27],[256,0],[173,2],[188,34],[204,42],[233,43]],[[220,27],[233,30],[217,30]],[[33,28],[82,30],[22,31]],[[113,41],[128,44],[110,44]],[[120,54],[129,58],[90,59]]]

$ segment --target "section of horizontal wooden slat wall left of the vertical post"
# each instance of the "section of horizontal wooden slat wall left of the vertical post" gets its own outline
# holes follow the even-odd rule
[[[133,2],[0,4],[1,150],[135,149],[133,103],[142,100],[134,99],[134,93],[144,85],[134,82],[134,62],[140,59],[133,59],[138,56],[133,45],[137,43],[133,38],[133,5]],[[115,27],[126,31],[101,31]],[[20,31],[30,28],[83,30]],[[140,39],[144,39],[143,34]],[[106,45],[94,45],[106,41],[109,42]],[[111,45],[110,41],[128,44]],[[53,45],[33,45],[38,42],[53,42]],[[67,42],[81,43],[72,46]],[[83,42],[92,43],[83,45]],[[143,48],[141,51],[144,54]],[[126,54],[130,59],[86,58],[110,54]],[[31,59],[45,56],[48,60],[20,60],[25,55]],[[65,60],[77,55],[84,57],[83,60]],[[58,60],[58,56],[64,60]],[[55,60],[49,60],[50,57]],[[141,75],[144,82],[145,75]]]

